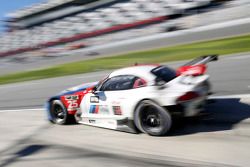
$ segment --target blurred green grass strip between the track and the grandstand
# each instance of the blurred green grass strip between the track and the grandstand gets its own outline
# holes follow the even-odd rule
[[[250,51],[250,34],[206,42],[164,47],[118,56],[78,61],[54,67],[0,76],[0,84],[22,82],[64,75],[116,69],[138,63],[164,63],[192,59],[208,54],[232,54]]]

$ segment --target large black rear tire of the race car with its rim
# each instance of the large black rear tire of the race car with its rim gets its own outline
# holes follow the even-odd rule
[[[166,135],[172,125],[169,112],[151,100],[139,103],[134,112],[136,127],[151,136]]]

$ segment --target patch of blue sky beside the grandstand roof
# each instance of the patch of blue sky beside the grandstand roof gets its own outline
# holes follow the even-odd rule
[[[43,2],[44,0],[1,0],[0,5],[0,32],[4,30],[4,22],[6,14],[17,9],[22,9],[25,6]]]

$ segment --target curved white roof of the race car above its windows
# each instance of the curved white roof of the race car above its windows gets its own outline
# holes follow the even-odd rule
[[[151,73],[151,70],[158,67],[159,65],[135,65],[131,67],[121,68],[113,71],[109,78],[119,75],[134,75],[143,78],[147,81],[155,79],[155,75]]]

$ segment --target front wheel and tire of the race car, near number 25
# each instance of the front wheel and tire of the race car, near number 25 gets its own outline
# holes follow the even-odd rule
[[[50,108],[51,122],[59,125],[75,123],[74,115],[69,115],[60,100],[53,100]]]

